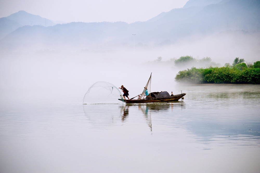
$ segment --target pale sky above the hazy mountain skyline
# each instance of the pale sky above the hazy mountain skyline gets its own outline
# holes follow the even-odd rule
[[[147,21],[161,12],[182,8],[188,0],[0,0],[0,18],[20,10],[53,21]]]

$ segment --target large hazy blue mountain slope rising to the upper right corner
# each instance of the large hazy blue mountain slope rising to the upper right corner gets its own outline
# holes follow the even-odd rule
[[[160,18],[155,17],[157,20],[151,19],[154,22],[140,35],[149,42],[174,43],[193,35],[205,36],[227,30],[255,32],[260,31],[259,16],[259,0],[224,0],[205,7],[172,9]]]

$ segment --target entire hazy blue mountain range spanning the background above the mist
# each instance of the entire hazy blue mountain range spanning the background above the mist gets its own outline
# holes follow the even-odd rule
[[[25,45],[28,47],[30,43],[48,48],[55,48],[58,44],[78,46],[79,49],[97,48],[101,45],[123,47],[132,44],[132,34],[136,34],[138,39],[135,44],[156,46],[171,44],[194,35],[201,37],[227,30],[260,30],[259,0],[212,0],[207,1],[210,5],[192,7],[195,2],[205,4],[206,1],[190,0],[185,8],[172,9],[146,22],[72,22],[49,27],[21,27],[2,39],[0,44],[5,48],[15,48],[18,45],[20,48]],[[15,17],[10,15],[9,18]]]

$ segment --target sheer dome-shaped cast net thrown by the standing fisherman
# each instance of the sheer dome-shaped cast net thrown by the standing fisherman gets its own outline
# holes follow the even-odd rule
[[[99,81],[88,88],[83,104],[120,104],[122,95],[118,87],[108,82]]]

